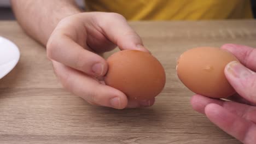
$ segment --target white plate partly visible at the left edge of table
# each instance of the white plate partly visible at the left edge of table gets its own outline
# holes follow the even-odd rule
[[[10,40],[0,37],[0,79],[15,67],[19,59],[18,47]]]

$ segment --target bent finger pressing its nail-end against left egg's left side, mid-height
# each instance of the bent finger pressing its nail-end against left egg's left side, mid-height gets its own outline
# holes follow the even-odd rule
[[[61,31],[51,35],[47,44],[47,55],[54,61],[89,75],[102,76],[107,72],[107,62],[102,57],[83,49]]]

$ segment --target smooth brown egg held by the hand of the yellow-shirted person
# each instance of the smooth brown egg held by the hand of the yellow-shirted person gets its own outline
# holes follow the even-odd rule
[[[161,63],[150,53],[123,50],[107,59],[108,86],[124,92],[130,100],[149,100],[165,86],[165,71]]]

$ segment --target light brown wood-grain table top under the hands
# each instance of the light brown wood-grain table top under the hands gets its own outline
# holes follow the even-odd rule
[[[176,59],[196,46],[256,47],[256,21],[130,24],[164,65],[167,82],[154,106],[114,110],[63,90],[44,47],[15,21],[1,21],[0,35],[18,45],[21,58],[0,80],[0,143],[240,143],[191,109],[193,93],[178,80]]]

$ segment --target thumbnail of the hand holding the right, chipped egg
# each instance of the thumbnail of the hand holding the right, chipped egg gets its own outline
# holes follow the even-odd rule
[[[238,79],[246,79],[246,77],[252,75],[252,72],[237,61],[230,62],[226,65],[226,71]]]

